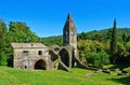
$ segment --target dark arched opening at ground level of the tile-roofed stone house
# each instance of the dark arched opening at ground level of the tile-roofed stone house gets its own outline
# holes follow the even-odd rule
[[[44,60],[39,59],[36,61],[35,66],[34,66],[35,70],[46,70],[47,69],[47,63]]]

